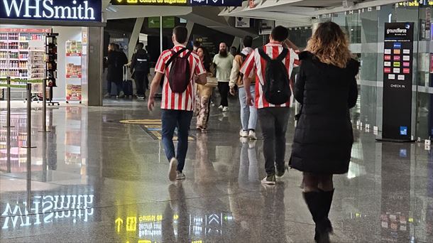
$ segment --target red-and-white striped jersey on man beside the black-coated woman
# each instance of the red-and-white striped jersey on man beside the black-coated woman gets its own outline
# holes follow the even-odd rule
[[[283,52],[283,45],[279,43],[268,43],[267,45],[263,46],[263,50],[266,54],[270,56],[270,58],[275,59],[278,58],[278,55],[280,55],[281,52]],[[290,77],[293,67],[297,67],[297,65],[299,65],[300,63],[297,52],[290,48],[285,60],[283,60],[283,63],[287,68],[287,73]],[[289,107],[290,101],[285,104],[275,105],[270,104],[265,99],[262,87],[266,82],[265,70],[266,60],[261,58],[257,48],[256,50],[254,50],[253,53],[251,53],[251,55],[248,55],[248,58],[246,58],[241,68],[241,72],[243,73],[243,75],[246,75],[246,77],[253,77],[253,72],[256,72],[256,97],[254,102],[256,104],[256,108],[261,109],[265,107]]]

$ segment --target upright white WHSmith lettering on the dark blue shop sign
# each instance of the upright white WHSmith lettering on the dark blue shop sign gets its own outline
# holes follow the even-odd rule
[[[10,18],[57,18],[95,20],[89,1],[73,0],[68,6],[57,6],[55,0],[1,0]],[[65,3],[66,1],[61,1]],[[78,3],[80,2],[80,4]]]

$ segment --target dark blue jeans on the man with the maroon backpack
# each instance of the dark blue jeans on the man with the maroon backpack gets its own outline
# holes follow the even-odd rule
[[[185,166],[185,158],[188,151],[188,130],[190,129],[192,112],[175,109],[162,109],[161,120],[163,122],[163,144],[165,156],[168,161],[177,158],[177,171],[182,172]],[[177,156],[173,135],[177,127]]]

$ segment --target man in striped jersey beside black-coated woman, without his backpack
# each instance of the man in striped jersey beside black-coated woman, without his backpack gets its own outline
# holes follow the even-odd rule
[[[277,26],[270,33],[270,42],[263,46],[263,50],[270,58],[275,60],[283,52],[283,45],[287,45],[289,51],[282,60],[287,74],[290,77],[292,69],[299,64],[297,49],[287,40],[288,31],[283,26]],[[243,87],[246,91],[247,104],[253,105],[250,85],[252,77],[256,73],[256,95],[254,104],[258,109],[258,121],[261,124],[263,134],[263,155],[265,156],[265,170],[267,176],[262,183],[275,185],[276,178],[283,177],[285,173],[285,133],[290,114],[290,99],[284,104],[275,105],[265,99],[263,85],[265,85],[266,60],[261,58],[258,49],[254,50],[243,63],[241,72],[243,73]],[[290,88],[287,85],[287,88]],[[275,168],[276,164],[276,168]]]

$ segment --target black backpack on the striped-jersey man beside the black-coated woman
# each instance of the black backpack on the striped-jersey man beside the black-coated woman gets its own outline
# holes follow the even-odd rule
[[[263,49],[258,49],[258,53],[266,60],[265,80],[262,84],[265,99],[270,104],[284,104],[289,101],[292,91],[290,90],[289,75],[283,60],[289,51],[283,48],[283,52],[278,58],[271,59]]]

